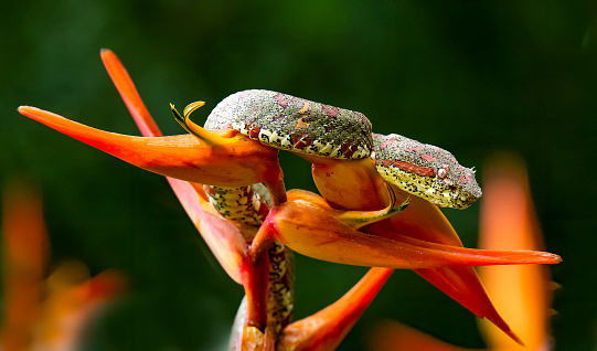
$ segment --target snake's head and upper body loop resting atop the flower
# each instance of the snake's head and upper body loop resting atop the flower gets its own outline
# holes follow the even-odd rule
[[[449,151],[395,134],[372,134],[371,123],[358,111],[253,89],[223,99],[204,127],[236,129],[292,152],[348,160],[373,157],[387,182],[438,206],[466,209],[481,196],[475,170],[460,166]]]

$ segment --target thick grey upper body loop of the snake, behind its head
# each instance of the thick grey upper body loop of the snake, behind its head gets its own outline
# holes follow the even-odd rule
[[[232,94],[204,127],[233,128],[275,148],[338,159],[367,157],[373,148],[363,114],[269,91]]]

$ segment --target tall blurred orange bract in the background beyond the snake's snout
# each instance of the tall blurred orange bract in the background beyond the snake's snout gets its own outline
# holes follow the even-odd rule
[[[484,168],[480,246],[487,248],[542,248],[526,170],[512,156],[494,159]],[[504,206],[504,204],[508,204]],[[481,323],[494,350],[540,350],[548,344],[550,274],[543,266],[494,267],[480,275],[495,306],[519,331],[526,348],[513,343]]]

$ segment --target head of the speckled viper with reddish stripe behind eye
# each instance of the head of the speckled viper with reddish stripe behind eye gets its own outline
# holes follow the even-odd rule
[[[373,150],[377,171],[387,182],[440,208],[466,209],[482,195],[475,170],[436,146],[374,134]]]

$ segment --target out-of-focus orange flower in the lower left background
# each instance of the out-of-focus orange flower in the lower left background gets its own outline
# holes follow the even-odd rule
[[[81,263],[63,263],[49,278],[49,245],[40,195],[8,187],[2,201],[3,316],[0,349],[77,350],[83,329],[125,288],[117,272],[89,277]]]

